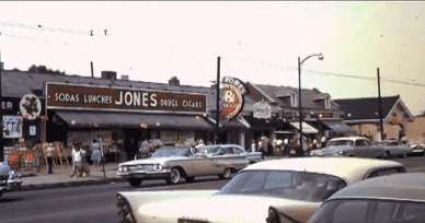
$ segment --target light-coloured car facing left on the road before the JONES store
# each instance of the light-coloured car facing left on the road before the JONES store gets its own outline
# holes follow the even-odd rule
[[[137,187],[143,179],[166,179],[177,184],[181,178],[193,183],[197,176],[218,175],[230,178],[243,167],[261,161],[261,153],[249,153],[241,145],[162,146],[143,160],[122,163],[117,175]]]

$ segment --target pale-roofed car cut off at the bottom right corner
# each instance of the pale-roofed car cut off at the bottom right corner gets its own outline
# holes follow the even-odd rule
[[[309,222],[425,222],[424,185],[424,173],[364,180],[334,193]]]

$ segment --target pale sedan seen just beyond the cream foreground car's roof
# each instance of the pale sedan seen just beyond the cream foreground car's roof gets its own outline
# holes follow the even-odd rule
[[[388,159],[382,145],[372,144],[363,137],[342,137],[328,141],[326,146],[310,152],[313,156],[357,156]]]

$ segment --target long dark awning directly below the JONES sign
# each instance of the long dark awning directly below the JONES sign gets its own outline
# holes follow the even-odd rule
[[[169,129],[202,129],[213,130],[202,116],[185,115],[148,115],[128,113],[93,113],[93,111],[64,111],[56,114],[70,128],[81,127],[129,127],[129,128],[169,128]]]

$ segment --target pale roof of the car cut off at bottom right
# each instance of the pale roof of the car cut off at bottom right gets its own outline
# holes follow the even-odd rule
[[[328,201],[346,198],[425,202],[425,173],[393,174],[363,180],[343,188]]]

